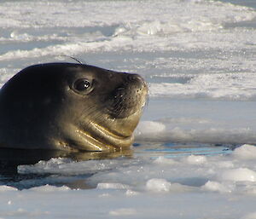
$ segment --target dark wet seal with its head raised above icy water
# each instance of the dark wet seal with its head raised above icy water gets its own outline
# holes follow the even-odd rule
[[[130,148],[147,94],[137,74],[79,63],[28,66],[0,90],[0,147]]]

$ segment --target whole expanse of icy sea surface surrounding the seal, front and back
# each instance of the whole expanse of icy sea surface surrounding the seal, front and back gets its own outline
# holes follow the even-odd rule
[[[256,7],[230,1],[0,1],[1,85],[72,55],[149,87],[133,158],[0,174],[0,218],[256,218]]]

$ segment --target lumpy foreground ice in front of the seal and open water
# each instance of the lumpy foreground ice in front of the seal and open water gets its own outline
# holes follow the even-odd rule
[[[23,174],[57,173],[62,176],[91,172],[79,184],[92,188],[39,186],[19,191],[0,186],[3,218],[254,218],[256,201],[255,162],[247,153],[255,146],[243,145],[230,155],[180,158],[119,158],[71,162],[50,159],[19,167]],[[241,157],[236,153],[241,152]],[[58,181],[52,177],[48,183]],[[73,178],[73,184],[78,183]],[[69,185],[72,185],[69,184]],[[202,210],[203,206],[203,210]]]

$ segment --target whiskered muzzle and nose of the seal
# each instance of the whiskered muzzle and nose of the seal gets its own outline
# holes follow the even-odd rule
[[[114,89],[106,101],[111,118],[128,118],[142,110],[148,95],[148,86],[137,74],[129,74],[124,84]]]

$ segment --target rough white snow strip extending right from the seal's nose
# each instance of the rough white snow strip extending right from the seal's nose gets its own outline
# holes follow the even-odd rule
[[[172,78],[173,76],[170,75],[169,77]],[[172,98],[255,101],[255,74],[236,72],[228,74],[200,74],[190,77],[191,79],[186,84],[149,84],[149,95]]]

